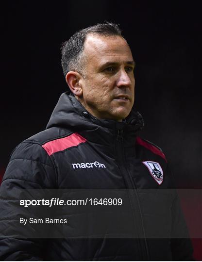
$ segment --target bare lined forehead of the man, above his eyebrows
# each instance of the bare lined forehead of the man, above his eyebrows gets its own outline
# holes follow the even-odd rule
[[[84,43],[84,54],[88,61],[96,62],[122,62],[132,61],[133,56],[126,40],[121,36],[101,36],[89,34]]]

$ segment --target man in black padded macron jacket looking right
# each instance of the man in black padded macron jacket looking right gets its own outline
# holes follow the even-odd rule
[[[0,224],[1,260],[191,260],[165,155],[137,136],[143,120],[132,110],[135,62],[118,26],[98,24],[75,33],[63,44],[62,66],[70,92],[60,97],[47,129],[14,150],[2,181],[1,219],[7,222]],[[69,224],[50,228],[60,231],[54,239],[51,233],[49,240],[32,238],[38,230],[32,224],[27,238],[14,237],[8,226],[22,229],[10,222],[16,210],[23,217],[29,211],[11,211],[8,199],[33,189],[109,190],[128,199],[129,211],[111,206],[86,214],[61,206],[57,212]],[[43,227],[38,232],[47,237]]]

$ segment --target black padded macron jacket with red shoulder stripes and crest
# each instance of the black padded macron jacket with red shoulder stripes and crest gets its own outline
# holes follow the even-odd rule
[[[3,177],[0,260],[191,260],[166,158],[160,148],[137,137],[142,125],[137,112],[122,122],[98,120],[72,95],[62,94],[47,129],[16,147]],[[62,229],[51,225],[49,230],[60,234],[48,238],[43,226],[18,222],[19,217],[34,217],[39,208],[19,205],[25,189],[43,194],[57,189],[60,199],[67,198],[62,189],[125,190],[120,194],[128,199],[128,211],[100,206],[86,218],[86,209],[75,213],[73,207],[61,206],[55,217],[60,214],[68,223]],[[13,202],[17,206],[12,210]],[[109,213],[113,221],[105,220]],[[23,230],[27,238],[15,237],[13,231],[20,236]],[[37,230],[40,237],[34,237]]]

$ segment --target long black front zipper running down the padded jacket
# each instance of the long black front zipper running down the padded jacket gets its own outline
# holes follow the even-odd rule
[[[139,203],[139,198],[137,195],[137,190],[135,186],[135,182],[133,181],[133,178],[130,174],[130,171],[127,168],[127,163],[125,159],[125,153],[124,153],[124,147],[123,147],[123,130],[118,130],[117,131],[117,141],[116,144],[118,146],[117,151],[117,156],[118,160],[120,161],[121,164],[118,164],[119,169],[121,171],[121,174],[123,175],[123,178],[125,180],[127,189],[128,189],[128,196],[129,200],[131,203],[131,208],[132,208],[132,213],[133,213],[133,218],[134,218],[134,224],[135,224],[135,230],[138,232],[138,235],[143,236],[142,239],[138,239],[139,241],[139,246],[141,247],[139,252],[142,256],[142,260],[150,260],[149,258],[149,251],[148,251],[148,246],[147,246],[147,241],[145,237],[145,232],[144,232],[144,226],[143,226],[143,219],[142,219],[142,213],[141,213],[141,208],[140,208],[140,203]],[[120,153],[119,153],[120,152]],[[118,161],[118,162],[119,162]],[[138,227],[137,223],[135,221],[140,223],[141,227]]]

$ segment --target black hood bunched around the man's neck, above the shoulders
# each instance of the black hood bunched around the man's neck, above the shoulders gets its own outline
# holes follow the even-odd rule
[[[46,129],[60,127],[73,131],[96,130],[98,127],[113,129],[128,128],[133,131],[141,130],[144,121],[139,112],[134,109],[122,122],[109,119],[97,119],[70,93],[63,93],[56,104]]]

